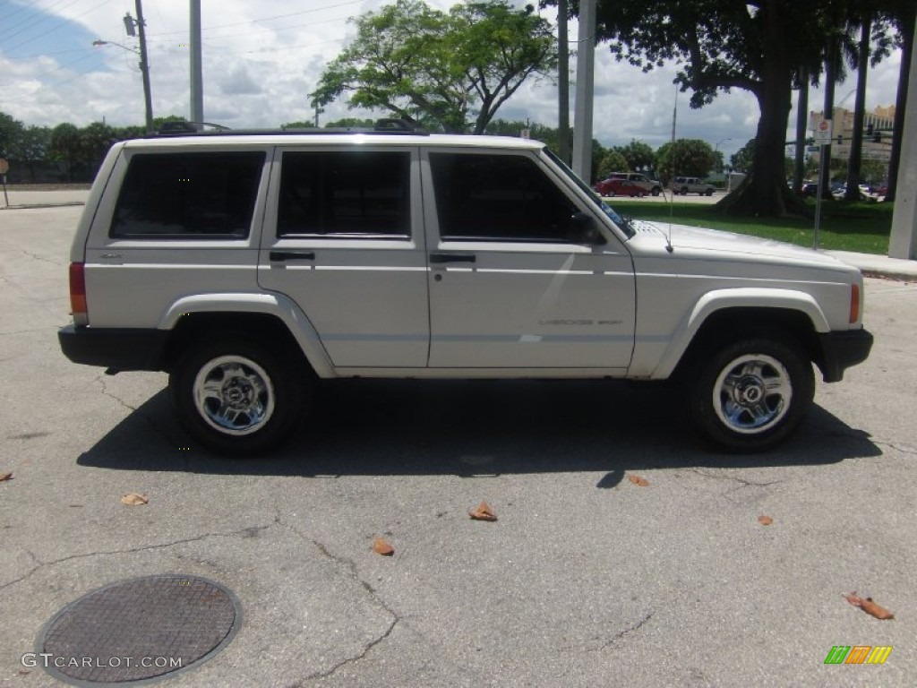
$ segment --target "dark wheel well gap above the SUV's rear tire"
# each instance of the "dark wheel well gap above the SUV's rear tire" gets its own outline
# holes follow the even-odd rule
[[[196,342],[224,335],[260,342],[280,351],[292,361],[303,361],[308,366],[303,350],[290,329],[277,316],[264,313],[190,313],[182,316],[171,331],[163,370],[171,372]]]

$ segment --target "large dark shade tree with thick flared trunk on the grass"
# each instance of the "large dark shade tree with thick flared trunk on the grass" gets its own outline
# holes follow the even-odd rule
[[[761,117],[751,174],[721,204],[729,212],[779,216],[799,203],[787,188],[784,167],[792,86],[800,65],[820,60],[830,26],[827,9],[835,2],[600,0],[598,38],[647,71],[674,61],[676,82],[691,91],[692,107],[731,89],[754,94]]]

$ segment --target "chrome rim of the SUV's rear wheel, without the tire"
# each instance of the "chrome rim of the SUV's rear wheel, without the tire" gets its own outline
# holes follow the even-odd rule
[[[194,407],[226,435],[249,435],[274,413],[274,387],[261,366],[243,356],[219,356],[194,378]]]

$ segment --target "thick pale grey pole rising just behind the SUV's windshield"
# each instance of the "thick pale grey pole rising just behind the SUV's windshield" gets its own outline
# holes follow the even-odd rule
[[[592,100],[595,78],[595,0],[580,0],[580,38],[573,113],[573,172],[592,182]]]

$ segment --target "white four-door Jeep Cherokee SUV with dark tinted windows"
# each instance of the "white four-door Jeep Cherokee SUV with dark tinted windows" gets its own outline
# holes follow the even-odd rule
[[[670,237],[669,237],[670,232]],[[676,379],[764,449],[866,359],[862,278],[617,215],[543,144],[413,131],[117,143],[72,245],[72,361],[166,371],[219,453],[279,445],[316,378]]]

